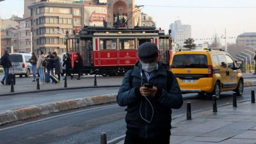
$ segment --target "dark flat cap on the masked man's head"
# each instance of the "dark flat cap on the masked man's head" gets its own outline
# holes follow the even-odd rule
[[[140,61],[150,62],[158,57],[158,48],[155,43],[146,42],[139,46],[138,57]]]

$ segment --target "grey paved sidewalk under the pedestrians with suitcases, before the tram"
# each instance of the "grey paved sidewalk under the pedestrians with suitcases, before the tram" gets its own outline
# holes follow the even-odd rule
[[[3,77],[1,74],[0,78]],[[81,80],[77,80],[77,75],[73,79],[70,77],[67,78],[67,87],[64,87],[65,81],[64,77],[61,77],[61,83],[44,83],[40,86],[40,90],[37,90],[37,82],[31,82],[32,77],[29,78],[19,78],[16,76],[16,84],[13,86],[14,91],[11,93],[11,86],[2,85],[0,83],[0,96],[7,96],[12,94],[19,93],[35,93],[35,92],[44,92],[49,90],[63,90],[63,89],[79,89],[87,87],[110,87],[110,86],[120,86],[123,80],[123,77],[96,77],[97,86],[94,86],[94,77],[92,75],[83,75]],[[39,79],[40,81],[40,79]]]

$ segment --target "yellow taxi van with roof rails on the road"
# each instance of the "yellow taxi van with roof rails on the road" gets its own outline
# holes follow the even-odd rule
[[[170,69],[182,93],[216,95],[233,90],[241,96],[244,77],[234,59],[221,48],[175,52]]]

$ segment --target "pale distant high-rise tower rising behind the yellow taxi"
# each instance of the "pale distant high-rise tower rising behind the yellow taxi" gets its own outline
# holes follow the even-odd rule
[[[176,20],[170,24],[172,38],[179,48],[183,48],[186,39],[191,38],[191,26],[182,25],[181,20]]]

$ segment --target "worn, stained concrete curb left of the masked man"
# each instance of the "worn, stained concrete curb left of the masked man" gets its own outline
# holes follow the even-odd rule
[[[44,114],[61,112],[64,110],[116,102],[116,96],[117,94],[107,94],[86,98],[48,102],[44,104],[28,106],[26,108],[6,110],[4,112],[0,112],[0,125],[5,125],[20,120],[26,120],[28,118],[38,117]]]

